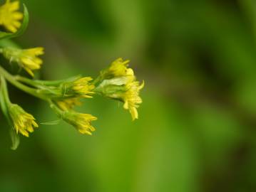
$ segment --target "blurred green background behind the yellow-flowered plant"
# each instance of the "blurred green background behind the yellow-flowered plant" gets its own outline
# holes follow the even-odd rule
[[[43,125],[17,151],[0,116],[0,191],[256,191],[254,0],[24,0],[24,48],[43,46],[40,78],[92,75],[130,59],[140,118],[94,97],[92,137]],[[45,102],[10,87],[39,122]]]

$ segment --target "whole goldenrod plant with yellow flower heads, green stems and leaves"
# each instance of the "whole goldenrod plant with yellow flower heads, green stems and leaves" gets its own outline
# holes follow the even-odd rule
[[[58,118],[73,125],[81,134],[91,135],[96,130],[92,122],[97,117],[76,112],[74,107],[82,105],[83,99],[92,98],[95,94],[123,102],[123,108],[129,110],[132,119],[138,119],[137,108],[142,102],[139,93],[144,82],[136,80],[133,69],[128,68],[129,60],[118,58],[102,70],[95,80],[83,75],[54,81],[34,79],[34,71],[39,70],[43,64],[40,56],[44,49],[22,49],[11,41],[12,38],[21,36],[29,23],[26,6],[20,11],[19,5],[19,1],[6,0],[0,6],[0,27],[3,30],[0,31],[0,54],[6,62],[19,65],[29,76],[13,75],[0,65],[0,103],[10,125],[11,149],[19,146],[19,134],[29,137],[40,123],[21,106],[11,102],[6,82],[46,101]]]

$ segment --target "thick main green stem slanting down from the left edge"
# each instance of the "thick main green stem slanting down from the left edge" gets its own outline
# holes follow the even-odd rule
[[[27,87],[26,85],[23,85],[21,82],[17,81],[13,75],[8,73],[1,66],[0,66],[0,75],[2,75],[6,80],[8,80],[12,85],[19,88],[20,90],[23,90],[24,92],[29,93],[30,95],[33,95],[34,97],[38,97],[41,100],[48,100],[48,98],[46,98],[45,96],[40,95],[36,91],[36,89],[31,88],[31,87]]]

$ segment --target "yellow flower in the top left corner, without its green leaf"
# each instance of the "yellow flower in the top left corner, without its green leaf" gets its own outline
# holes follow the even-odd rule
[[[15,33],[21,26],[20,20],[23,18],[23,14],[18,10],[19,1],[6,0],[6,3],[0,6],[0,25],[12,33]]]

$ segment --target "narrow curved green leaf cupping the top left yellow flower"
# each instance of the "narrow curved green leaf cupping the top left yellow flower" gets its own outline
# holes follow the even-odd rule
[[[23,6],[24,6],[24,19],[19,30],[16,31],[16,33],[6,33],[6,32],[0,31],[0,40],[4,38],[15,38],[15,37],[21,36],[26,31],[26,28],[29,25],[29,11],[26,8],[25,4],[23,4]]]

